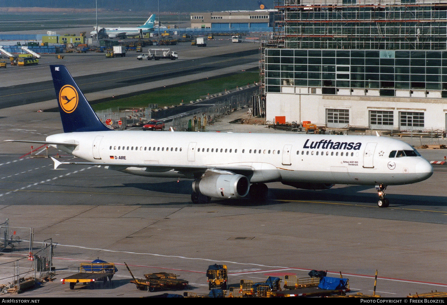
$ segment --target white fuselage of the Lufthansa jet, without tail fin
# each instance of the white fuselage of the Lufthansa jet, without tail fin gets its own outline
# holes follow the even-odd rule
[[[193,178],[175,166],[240,167],[251,170],[251,183],[399,185],[433,173],[420,155],[389,157],[391,151],[413,151],[409,144],[375,136],[105,131],[55,134],[46,141],[74,141],[79,144],[74,149],[57,147],[110,169],[152,177]]]

